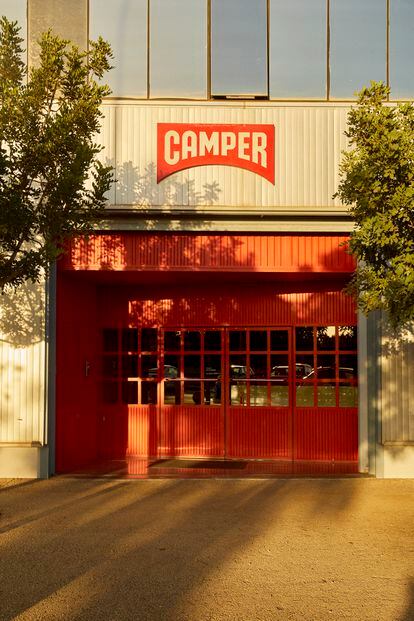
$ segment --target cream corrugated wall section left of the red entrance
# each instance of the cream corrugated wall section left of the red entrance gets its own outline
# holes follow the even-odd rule
[[[44,285],[28,283],[0,305],[0,444],[44,443]]]

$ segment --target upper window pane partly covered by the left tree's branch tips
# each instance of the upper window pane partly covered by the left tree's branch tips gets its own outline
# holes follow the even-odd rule
[[[115,97],[147,97],[147,0],[90,0],[91,39],[112,46],[114,68],[104,78]]]

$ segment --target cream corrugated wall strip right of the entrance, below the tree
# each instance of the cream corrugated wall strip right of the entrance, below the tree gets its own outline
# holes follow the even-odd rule
[[[381,356],[383,442],[414,442],[414,330],[384,336]]]

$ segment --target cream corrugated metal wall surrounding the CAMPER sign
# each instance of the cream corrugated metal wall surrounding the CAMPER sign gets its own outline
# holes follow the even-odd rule
[[[112,205],[197,211],[337,210],[341,151],[349,106],[254,105],[246,102],[106,103],[99,141],[102,160],[115,166]],[[276,128],[276,184],[229,166],[201,166],[157,185],[157,123],[270,123]],[[224,207],[223,207],[224,206]]]

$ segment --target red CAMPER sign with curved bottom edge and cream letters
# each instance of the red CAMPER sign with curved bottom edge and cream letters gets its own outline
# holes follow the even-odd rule
[[[157,183],[179,170],[220,164],[275,183],[274,125],[158,123]]]

